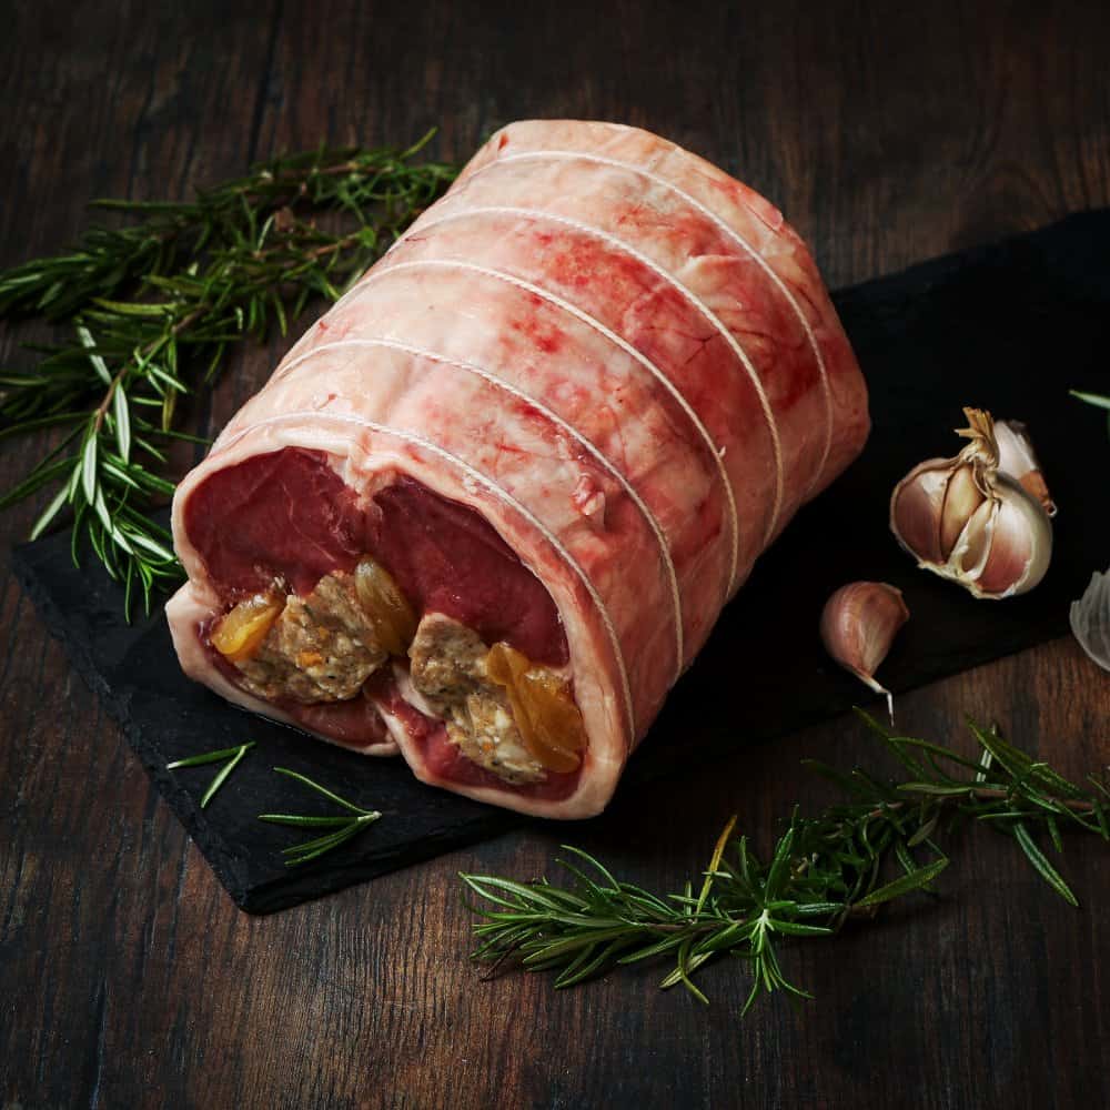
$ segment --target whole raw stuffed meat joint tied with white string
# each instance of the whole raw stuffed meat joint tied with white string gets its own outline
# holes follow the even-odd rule
[[[181,483],[174,644],[248,709],[588,817],[867,431],[771,204],[635,128],[513,123]]]

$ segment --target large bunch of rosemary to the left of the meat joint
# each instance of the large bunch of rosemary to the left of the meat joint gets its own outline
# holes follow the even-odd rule
[[[74,559],[87,543],[124,583],[128,612],[135,587],[149,609],[181,573],[149,516],[173,493],[159,473],[169,444],[196,442],[175,427],[178,400],[241,340],[284,335],[310,299],[336,300],[446,189],[454,167],[413,161],[432,134],[406,150],[279,158],[186,202],[95,201],[135,222],[0,272],[0,319],[70,334],[30,347],[33,367],[0,373],[0,438],[60,434],[0,508],[57,485],[31,538],[68,507]]]

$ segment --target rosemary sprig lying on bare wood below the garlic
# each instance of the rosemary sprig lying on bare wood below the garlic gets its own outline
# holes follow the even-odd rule
[[[568,886],[462,875],[466,888],[484,900],[470,906],[478,918],[474,958],[495,968],[514,959],[527,970],[555,972],[555,986],[569,987],[608,968],[667,957],[675,967],[660,986],[683,983],[706,1001],[692,977],[728,953],[744,959],[751,972],[744,1013],[761,995],[777,990],[809,998],[784,975],[780,942],[828,937],[848,921],[872,917],[888,901],[934,892],[949,864],[940,840],[961,824],[1011,836],[1049,885],[1078,905],[1037,836],[1046,834],[1057,851],[1063,828],[1110,841],[1104,779],[1091,778],[1091,790],[1080,788],[1008,744],[997,729],[973,722],[977,760],[897,736],[860,716],[908,778],[881,781],[860,768],[845,774],[808,761],[842,787],[847,800],[816,817],[795,811],[766,864],[747,837],[734,835],[733,818],[696,896],[693,882],[682,894],[659,897],[619,881],[593,856],[567,845],[571,857],[558,862],[573,877]],[[891,868],[901,874],[884,881]]]

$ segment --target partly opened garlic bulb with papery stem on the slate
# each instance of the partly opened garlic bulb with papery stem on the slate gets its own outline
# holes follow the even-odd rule
[[[898,483],[890,529],[918,566],[976,597],[1023,594],[1048,569],[1052,523],[1040,501],[1000,468],[990,413],[965,408],[963,415],[969,426],[957,434],[970,443],[955,458],[921,463]]]

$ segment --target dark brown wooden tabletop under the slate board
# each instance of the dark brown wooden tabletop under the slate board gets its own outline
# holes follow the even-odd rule
[[[1110,9],[1066,7],[8,3],[0,265],[67,244],[92,196],[182,195],[282,149],[403,142],[433,123],[438,153],[463,159],[514,118],[576,115],[652,128],[722,163],[783,206],[830,284],[854,282],[1110,203]],[[278,353],[235,365],[213,426]],[[23,357],[10,333],[0,356]],[[4,485],[29,450],[2,444]],[[34,513],[0,517],[4,539]],[[973,837],[939,902],[789,952],[818,1001],[776,999],[743,1023],[736,965],[705,976],[705,1009],[656,990],[656,969],[555,992],[535,976],[482,981],[467,962],[456,871],[532,876],[573,837],[672,889],[734,809],[766,844],[775,818],[817,796],[799,758],[866,757],[850,720],[695,768],[586,827],[506,836],[252,919],[10,576],[2,591],[4,1108],[1110,1099],[1099,842],[1069,845],[1076,911],[1012,844]],[[995,717],[1081,775],[1107,760],[1108,695],[1110,678],[1061,640],[907,696],[899,713],[942,741],[965,712]]]

